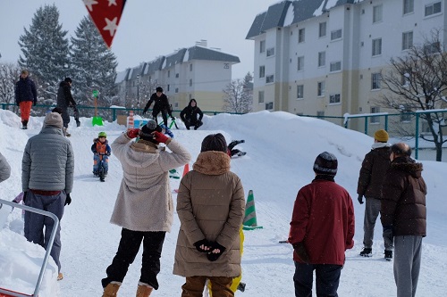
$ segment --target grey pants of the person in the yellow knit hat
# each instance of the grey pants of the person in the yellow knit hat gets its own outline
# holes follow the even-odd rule
[[[365,219],[363,220],[363,246],[371,249],[373,247],[375,221],[380,213],[381,202],[379,199],[367,197],[365,206]],[[388,236],[384,236],[385,251],[392,251],[392,240]]]

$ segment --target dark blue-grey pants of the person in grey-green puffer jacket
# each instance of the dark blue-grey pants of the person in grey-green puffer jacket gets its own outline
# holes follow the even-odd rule
[[[34,207],[38,210],[46,210],[48,212],[52,212],[60,221],[63,217],[65,198],[65,191],[61,191],[59,194],[47,196],[42,194],[34,194],[32,190],[30,190],[27,193],[25,205]],[[25,238],[29,242],[38,243],[39,245],[43,246],[44,249],[48,247],[48,242],[50,240],[51,232],[53,231],[54,225],[55,221],[50,217],[46,217],[30,211],[25,212]],[[55,234],[55,243],[53,243],[53,248],[50,252],[51,257],[53,258],[53,260],[55,260],[58,272],[61,272],[61,262],[59,260],[59,257],[61,255],[61,248],[61,225],[59,224],[59,226],[57,227],[57,232]]]

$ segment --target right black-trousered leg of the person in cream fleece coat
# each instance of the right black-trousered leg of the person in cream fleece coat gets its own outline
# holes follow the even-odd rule
[[[158,289],[156,276],[160,272],[160,257],[166,232],[145,232],[143,239],[143,260],[139,282]]]

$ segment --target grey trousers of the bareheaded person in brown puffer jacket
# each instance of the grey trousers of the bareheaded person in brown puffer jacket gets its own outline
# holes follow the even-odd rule
[[[394,281],[397,297],[414,297],[422,254],[422,236],[394,237]]]

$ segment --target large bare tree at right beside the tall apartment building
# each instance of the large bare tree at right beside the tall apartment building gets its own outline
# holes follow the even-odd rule
[[[434,29],[431,37],[425,37],[423,45],[413,45],[408,54],[392,58],[391,70],[382,75],[385,86],[380,103],[398,111],[431,111],[420,113],[426,120],[431,137],[421,134],[436,148],[436,161],[442,161],[443,127],[447,126],[444,113],[444,95],[447,92],[447,53],[441,41],[441,29]]]

